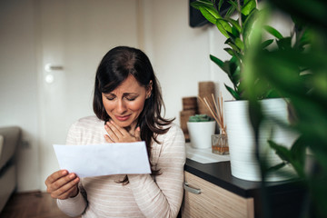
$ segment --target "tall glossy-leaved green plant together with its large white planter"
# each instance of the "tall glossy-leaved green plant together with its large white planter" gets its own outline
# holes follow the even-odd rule
[[[244,72],[251,69],[245,63],[249,56],[253,55],[254,46],[263,52],[268,52],[268,46],[272,46],[273,42],[276,42],[278,48],[282,50],[292,37],[283,37],[272,26],[263,25],[262,27],[267,33],[274,38],[264,41],[256,38],[259,30],[255,28],[255,25],[264,23],[267,10],[259,10],[255,0],[244,0],[243,2],[235,0],[228,3],[230,7],[224,16],[220,15],[223,1],[219,1],[216,5],[214,1],[198,0],[193,2],[192,6],[199,9],[208,21],[217,26],[218,30],[226,37],[225,44],[229,46],[224,49],[231,55],[229,60],[222,61],[213,55],[210,55],[210,58],[228,74],[233,87],[227,85],[225,87],[237,100],[226,101],[224,104],[232,174],[241,179],[260,181],[262,176],[260,165],[256,161],[255,142],[259,141],[259,154],[265,159],[269,159],[269,164],[272,166],[280,163],[281,159],[270,149],[268,139],[291,146],[298,134],[274,124],[276,120],[288,122],[289,104],[281,98],[285,95],[277,92],[270,81],[260,76],[253,75],[252,80],[246,80]],[[234,12],[236,12],[236,18],[232,17]],[[296,40],[301,41],[302,37],[296,37]],[[260,44],[255,44],[254,41],[260,41]],[[249,93],[253,89],[256,92]],[[250,97],[260,100],[260,103],[263,104],[264,117],[266,117],[264,124],[261,124],[260,127],[263,134],[258,135],[258,138],[253,132],[248,110],[250,102],[247,100]],[[284,173],[272,172],[267,174],[265,179],[267,181],[285,180],[294,173],[291,165],[285,165],[279,171]]]

